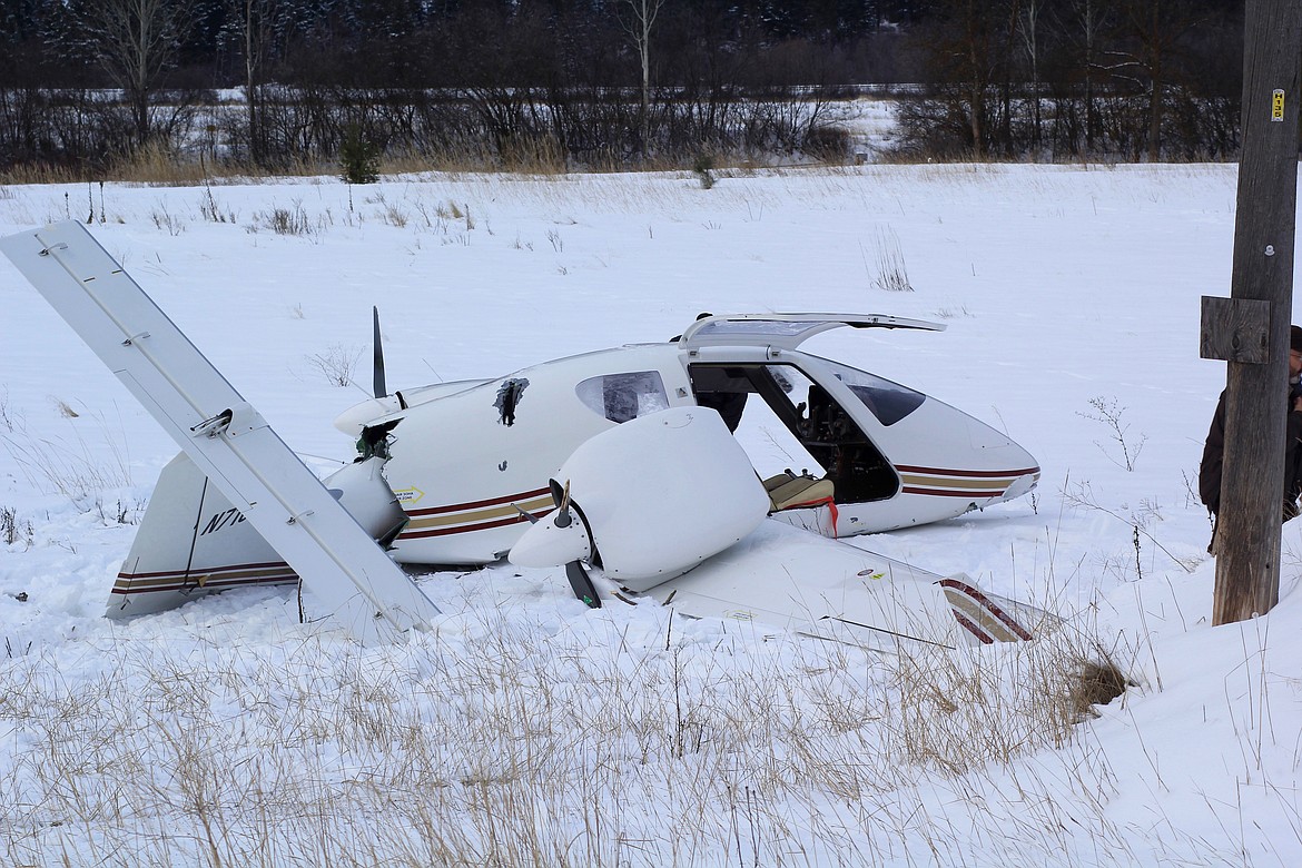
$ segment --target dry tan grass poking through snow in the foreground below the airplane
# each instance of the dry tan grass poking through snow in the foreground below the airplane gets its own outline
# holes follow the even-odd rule
[[[0,851],[129,867],[930,864],[932,851],[978,865],[1070,845],[1052,798],[1025,804],[1057,786],[1052,755],[1044,780],[988,785],[1048,747],[1081,761],[1070,642],[892,657],[678,626],[667,648],[655,619],[669,614],[630,612],[599,644],[600,630],[492,610],[368,651],[176,621],[38,644],[0,668]],[[1105,774],[1072,774],[1101,802]],[[956,794],[948,817],[918,789],[928,778]],[[1085,821],[1125,852],[1105,819]],[[970,850],[974,825],[988,845]]]

